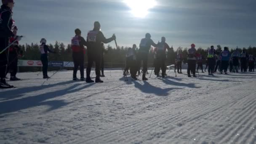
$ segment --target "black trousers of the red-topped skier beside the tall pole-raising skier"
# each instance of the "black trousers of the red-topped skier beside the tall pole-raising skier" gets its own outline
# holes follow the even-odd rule
[[[77,69],[80,67],[80,77],[84,78],[84,53],[83,52],[73,52],[73,61],[74,61],[74,69],[73,69],[73,77],[77,77]]]

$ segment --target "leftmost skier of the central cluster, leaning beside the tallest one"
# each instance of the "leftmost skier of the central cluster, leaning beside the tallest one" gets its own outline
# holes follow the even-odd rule
[[[133,44],[133,48],[128,48],[127,54],[126,54],[126,65],[125,65],[125,72],[130,69],[131,78],[133,80],[138,80],[136,77],[137,73],[137,61],[136,61],[136,45]],[[124,75],[126,73],[124,72]]]

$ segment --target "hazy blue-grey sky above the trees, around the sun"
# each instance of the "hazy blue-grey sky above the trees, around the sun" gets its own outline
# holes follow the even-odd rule
[[[93,22],[99,21],[105,37],[115,33],[121,46],[139,45],[147,32],[155,43],[165,36],[174,48],[191,43],[203,48],[256,46],[256,0],[155,1],[157,5],[140,18],[124,0],[15,0],[13,19],[18,33],[26,36],[21,44],[39,43],[44,37],[48,43],[67,45],[75,28],[86,38]]]

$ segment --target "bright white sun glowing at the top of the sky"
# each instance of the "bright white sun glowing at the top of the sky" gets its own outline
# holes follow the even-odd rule
[[[131,8],[135,17],[140,18],[147,16],[148,10],[157,4],[155,0],[124,0],[124,3]]]

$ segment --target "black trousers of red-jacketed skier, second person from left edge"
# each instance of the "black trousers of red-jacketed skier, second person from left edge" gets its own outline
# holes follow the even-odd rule
[[[9,65],[6,74],[11,73],[11,77],[16,77],[18,71],[18,54],[16,52],[9,53]]]

